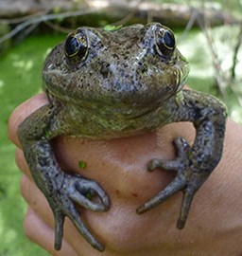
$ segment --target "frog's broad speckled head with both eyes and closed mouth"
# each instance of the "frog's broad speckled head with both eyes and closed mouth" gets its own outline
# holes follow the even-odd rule
[[[188,71],[173,32],[160,24],[79,27],[50,52],[43,80],[61,100],[145,112],[176,95]]]

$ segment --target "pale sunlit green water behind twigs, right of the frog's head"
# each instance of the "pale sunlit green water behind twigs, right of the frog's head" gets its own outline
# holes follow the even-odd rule
[[[217,70],[213,64],[210,42],[204,33],[193,30],[178,36],[178,46],[190,63],[190,75],[187,83],[203,92],[211,93],[224,101],[230,117],[242,123],[242,46],[239,48],[235,67],[235,79],[232,79],[233,52],[240,32],[239,26],[223,26],[211,29],[217,62],[221,69],[224,94],[216,84]]]

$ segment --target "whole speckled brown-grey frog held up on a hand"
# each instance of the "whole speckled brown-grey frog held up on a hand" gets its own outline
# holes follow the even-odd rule
[[[49,103],[20,124],[18,136],[31,174],[53,210],[56,249],[61,248],[67,216],[93,247],[103,251],[76,204],[95,211],[110,208],[109,197],[98,183],[61,170],[50,144],[61,135],[111,139],[171,122],[193,122],[197,133],[192,146],[177,137],[174,160],[147,163],[148,171],[161,167],[177,175],[137,209],[144,213],[182,191],[177,227],[184,227],[195,193],[220,160],[226,120],[220,101],[182,89],[188,71],[173,32],[158,23],[112,31],[79,27],[49,53],[43,66]],[[92,201],[87,194],[99,200]]]

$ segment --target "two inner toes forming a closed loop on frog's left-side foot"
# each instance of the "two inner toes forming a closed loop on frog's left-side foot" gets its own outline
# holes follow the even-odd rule
[[[89,210],[105,211],[110,208],[110,200],[106,192],[94,181],[80,176],[72,177],[67,188],[69,197]],[[87,195],[91,195],[91,199]],[[99,198],[98,201],[92,201],[92,197]]]

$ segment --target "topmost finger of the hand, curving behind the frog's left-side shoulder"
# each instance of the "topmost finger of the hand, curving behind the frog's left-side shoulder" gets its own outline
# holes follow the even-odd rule
[[[17,136],[19,124],[26,119],[31,113],[43,106],[47,102],[47,97],[44,93],[38,94],[28,101],[19,105],[11,114],[9,118],[9,139],[18,147],[20,142]]]

